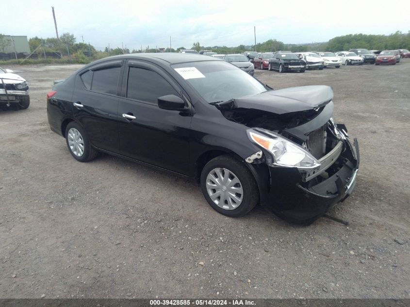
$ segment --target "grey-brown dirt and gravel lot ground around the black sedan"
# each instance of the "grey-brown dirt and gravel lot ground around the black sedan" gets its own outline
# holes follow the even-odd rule
[[[99,155],[76,162],[49,130],[52,81],[81,65],[7,67],[32,104],[0,111],[0,298],[410,297],[410,59],[284,73],[330,85],[361,148],[353,195],[307,227],[256,208],[227,218],[193,182]]]

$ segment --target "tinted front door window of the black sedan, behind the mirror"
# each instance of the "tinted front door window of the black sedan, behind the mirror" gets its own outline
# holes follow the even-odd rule
[[[176,95],[177,91],[158,73],[141,67],[130,67],[127,97],[158,104],[158,97]]]

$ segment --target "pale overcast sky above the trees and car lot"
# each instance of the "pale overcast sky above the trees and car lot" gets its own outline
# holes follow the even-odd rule
[[[380,3],[379,3],[380,2]],[[20,0],[1,16],[6,35],[59,34],[97,49],[253,45],[270,38],[284,43],[328,41],[349,33],[390,34],[410,30],[410,2],[381,0]],[[258,4],[257,4],[258,3]],[[262,6],[259,3],[263,3]],[[18,11],[15,11],[18,6]]]

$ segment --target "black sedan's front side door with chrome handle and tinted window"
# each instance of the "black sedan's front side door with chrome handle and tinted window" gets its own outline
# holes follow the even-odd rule
[[[181,93],[178,83],[159,66],[127,62],[118,104],[122,155],[181,174],[189,173],[192,114],[158,107],[158,97],[165,95],[187,101]]]

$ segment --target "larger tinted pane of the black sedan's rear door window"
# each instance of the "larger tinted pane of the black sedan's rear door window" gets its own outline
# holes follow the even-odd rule
[[[121,67],[102,68],[94,71],[91,90],[117,95],[118,77]]]

